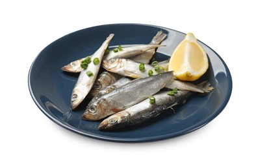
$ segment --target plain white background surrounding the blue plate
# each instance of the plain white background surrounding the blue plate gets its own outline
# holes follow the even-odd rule
[[[255,167],[253,1],[1,1],[0,167]],[[29,94],[32,61],[76,30],[144,23],[193,32],[225,61],[233,92],[198,131],[151,143],[94,140],[49,120]],[[253,59],[254,58],[254,59]]]

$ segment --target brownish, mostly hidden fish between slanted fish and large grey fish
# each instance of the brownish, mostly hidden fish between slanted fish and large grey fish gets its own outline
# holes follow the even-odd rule
[[[99,74],[96,81],[94,82],[94,85],[88,95],[90,95],[93,98],[94,96],[97,95],[97,93],[100,90],[105,89],[106,87],[108,87],[112,83],[115,83],[116,81],[118,81],[118,79],[122,77],[123,76],[119,74],[108,72],[108,71],[101,72],[101,74]]]

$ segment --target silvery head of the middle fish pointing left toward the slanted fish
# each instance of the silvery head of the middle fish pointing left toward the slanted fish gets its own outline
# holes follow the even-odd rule
[[[104,60],[102,65],[109,71],[117,71],[120,68],[125,67],[125,60],[122,58],[112,58],[109,60]]]

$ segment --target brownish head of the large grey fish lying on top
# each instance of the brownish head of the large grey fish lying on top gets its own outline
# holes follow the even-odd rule
[[[107,115],[108,107],[109,103],[107,101],[98,99],[88,104],[81,118],[83,120],[100,120]]]

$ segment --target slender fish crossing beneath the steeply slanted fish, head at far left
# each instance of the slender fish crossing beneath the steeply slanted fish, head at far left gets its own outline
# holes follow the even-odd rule
[[[132,56],[136,56],[138,54],[142,54],[147,50],[151,50],[161,45],[135,45],[131,47],[123,47],[121,51],[114,52],[114,50],[110,50],[109,54],[105,54],[103,59],[111,59],[111,58],[130,58]],[[82,61],[85,58],[77,59],[75,61],[71,61],[68,65],[64,65],[61,70],[65,72],[81,72],[83,68],[81,67]]]

